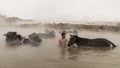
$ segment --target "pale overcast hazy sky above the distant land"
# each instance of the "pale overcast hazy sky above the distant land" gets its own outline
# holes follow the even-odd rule
[[[120,0],[0,0],[0,13],[40,21],[120,21]]]

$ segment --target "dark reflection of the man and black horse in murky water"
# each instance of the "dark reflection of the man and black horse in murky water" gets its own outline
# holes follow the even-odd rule
[[[60,54],[61,59],[78,60],[83,56],[105,57],[112,50],[113,49],[111,48],[96,48],[96,47],[74,47],[74,48],[60,47]]]

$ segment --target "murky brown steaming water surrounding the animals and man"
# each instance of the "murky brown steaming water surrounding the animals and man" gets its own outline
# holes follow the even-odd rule
[[[107,38],[118,47],[115,49],[80,47],[74,49],[58,46],[59,33],[53,39],[43,39],[42,43],[30,45],[7,46],[4,33],[17,31],[23,36],[32,32],[44,32],[42,28],[0,28],[0,68],[119,68],[120,67],[120,33],[80,31],[79,36],[87,38]],[[67,35],[67,38],[69,35]]]

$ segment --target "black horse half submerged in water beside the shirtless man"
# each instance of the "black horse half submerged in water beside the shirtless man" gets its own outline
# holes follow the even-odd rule
[[[88,39],[88,38],[80,38],[77,35],[71,35],[68,46],[73,46],[76,43],[78,46],[92,46],[92,47],[116,47],[114,43],[105,39],[105,38],[96,38],[96,39]]]

